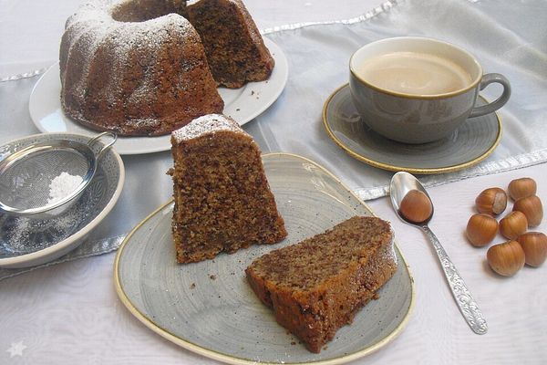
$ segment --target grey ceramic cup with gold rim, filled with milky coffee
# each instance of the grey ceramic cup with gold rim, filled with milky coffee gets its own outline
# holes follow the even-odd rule
[[[509,80],[484,74],[468,51],[440,40],[401,36],[359,48],[349,61],[349,87],[361,119],[394,141],[426,143],[449,136],[470,118],[499,110],[511,96]],[[477,106],[491,83],[500,98]]]

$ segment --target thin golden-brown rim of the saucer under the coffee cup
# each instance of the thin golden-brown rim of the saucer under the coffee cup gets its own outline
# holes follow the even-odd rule
[[[356,151],[350,149],[349,147],[347,147],[346,144],[343,141],[340,141],[335,136],[335,133],[333,132],[333,130],[331,130],[331,128],[329,126],[329,123],[328,123],[327,118],[326,118],[326,110],[327,110],[331,100],[335,97],[335,95],[341,89],[344,89],[344,88],[347,88],[347,87],[349,87],[349,83],[346,83],[346,84],[338,87],[325,100],[325,103],[323,104],[323,114],[322,114],[323,115],[323,125],[325,126],[325,130],[326,130],[328,136],[331,138],[331,140],[335,141],[335,143],[342,150],[346,151],[346,153],[348,153],[350,156],[354,157],[356,160],[359,160],[361,162],[365,162],[366,164],[368,164],[370,166],[377,167],[379,169],[387,170],[387,171],[391,171],[391,172],[404,171],[404,172],[418,173],[418,174],[423,174],[423,175],[434,174],[434,173],[457,172],[459,170],[463,170],[463,169],[466,169],[470,166],[476,165],[477,163],[479,163],[479,162],[483,161],[484,159],[486,159],[496,149],[496,147],[498,147],[498,145],[501,142],[501,135],[502,135],[501,116],[497,111],[494,111],[494,114],[496,115],[496,120],[498,120],[498,134],[496,135],[496,140],[492,143],[492,145],[490,146],[490,148],[487,151],[484,151],[479,157],[477,157],[473,160],[470,160],[468,162],[458,163],[458,164],[455,164],[455,165],[446,166],[446,167],[439,167],[439,168],[414,168],[414,167],[397,166],[397,165],[392,165],[392,164],[384,163],[384,162],[377,162],[376,160],[369,159],[366,156],[363,156],[362,154],[359,154],[358,152],[356,152]],[[487,99],[485,99],[482,96],[479,96],[479,98],[483,99],[484,101],[487,101]]]

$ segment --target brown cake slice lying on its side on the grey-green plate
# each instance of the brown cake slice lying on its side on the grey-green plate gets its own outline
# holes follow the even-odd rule
[[[396,270],[389,224],[356,216],[259,257],[245,272],[277,322],[319,352]]]

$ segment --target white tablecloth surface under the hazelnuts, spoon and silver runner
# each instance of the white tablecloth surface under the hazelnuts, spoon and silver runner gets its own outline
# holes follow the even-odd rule
[[[247,0],[259,27],[349,18],[379,0]],[[0,77],[46,67],[57,59],[64,21],[77,2],[2,1]],[[471,4],[470,4],[471,5]],[[488,320],[489,332],[471,332],[449,293],[439,263],[422,233],[397,219],[387,198],[368,202],[393,224],[398,245],[416,282],[416,306],[397,339],[359,364],[544,364],[547,363],[547,264],[524,267],[511,278],[494,275],[486,248],[464,236],[481,190],[507,187],[529,176],[547,203],[545,164],[431,188],[436,211],[431,229],[459,268]],[[151,207],[153,209],[155,207]],[[547,220],[534,230],[547,232]],[[504,239],[498,235],[496,243]],[[112,268],[115,254],[95,256],[0,281],[2,364],[212,364],[181,349],[133,318],[119,301]]]

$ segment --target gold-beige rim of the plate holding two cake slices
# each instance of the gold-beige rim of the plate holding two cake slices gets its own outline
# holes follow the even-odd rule
[[[347,186],[344,183],[342,183],[334,174],[332,174],[331,172],[329,172],[323,166],[317,164],[316,162],[313,162],[311,160],[306,159],[305,157],[302,157],[302,156],[299,156],[299,155],[296,155],[296,154],[293,154],[293,153],[275,152],[275,153],[267,153],[267,154],[263,155],[263,157],[267,157],[267,156],[296,157],[298,159],[303,160],[304,162],[308,162],[308,163],[311,163],[311,164],[315,165],[318,169],[320,169],[321,171],[325,172],[328,176],[333,178],[336,183],[340,183],[340,185],[342,185],[342,187],[344,189],[346,189],[346,191],[351,193],[359,203],[363,204],[366,207],[366,210],[368,210],[370,212],[370,214],[372,214],[374,216],[377,216],[368,207],[368,205],[365,202],[363,202],[363,200],[361,200],[361,198],[359,198],[356,195],[356,193],[353,193],[353,191],[348,189]],[[164,339],[169,339],[171,342],[181,346],[182,348],[189,349],[192,352],[200,354],[204,357],[207,357],[207,358],[210,358],[210,359],[213,359],[213,360],[219,360],[219,361],[229,363],[229,364],[235,364],[235,365],[257,365],[257,364],[260,364],[260,365],[279,365],[279,364],[281,364],[281,362],[260,362],[260,361],[256,361],[256,360],[247,360],[247,359],[236,358],[236,357],[233,357],[233,356],[230,356],[230,355],[226,355],[222,352],[215,351],[214,349],[203,348],[199,345],[196,345],[195,343],[192,343],[191,341],[181,339],[180,337],[177,337],[176,335],[170,333],[170,331],[166,330],[165,328],[161,328],[155,322],[150,320],[150,318],[147,318],[144,314],[142,314],[139,311],[138,308],[136,308],[133,305],[133,303],[131,302],[129,297],[126,295],[126,293],[125,293],[125,291],[122,287],[120,278],[119,278],[119,261],[120,261],[121,255],[123,255],[124,247],[128,244],[131,236],[134,235],[135,232],[137,232],[143,224],[145,224],[153,215],[158,214],[160,211],[162,211],[167,206],[169,206],[170,203],[172,203],[172,202],[173,202],[173,199],[171,199],[168,203],[165,203],[165,204],[161,205],[158,209],[156,209],[152,213],[150,213],[146,218],[144,218],[139,224],[137,224],[131,230],[129,235],[127,235],[127,237],[123,240],[123,242],[119,246],[118,253],[117,253],[116,259],[114,261],[114,285],[116,287],[116,293],[118,294],[118,297],[121,300],[121,302],[123,303],[123,305],[126,308],[128,308],[129,312],[133,316],[138,318],[139,321],[142,322],[146,327],[150,328],[151,330],[153,330],[154,332],[159,334]],[[313,365],[342,364],[342,363],[345,363],[347,361],[356,360],[356,359],[362,358],[366,355],[369,355],[373,352],[376,352],[378,349],[381,349],[383,346],[387,345],[387,343],[389,343],[393,339],[397,338],[397,336],[403,331],[403,329],[407,327],[408,320],[410,318],[410,314],[414,310],[414,305],[415,305],[415,302],[416,302],[416,297],[415,297],[416,287],[415,287],[415,284],[414,284],[414,278],[412,277],[412,274],[410,273],[410,270],[409,270],[409,267],[408,267],[408,264],[407,264],[407,260],[405,259],[405,256],[402,254],[401,250],[398,248],[398,245],[397,245],[396,242],[394,242],[394,245],[397,248],[398,254],[402,258],[402,262],[399,263],[399,265],[404,265],[406,267],[407,272],[408,272],[408,277],[409,277],[409,281],[410,281],[410,293],[411,293],[410,304],[408,305],[408,311],[405,314],[405,318],[403,318],[401,320],[401,322],[398,324],[397,328],[393,329],[393,331],[390,332],[385,338],[380,339],[379,341],[377,341],[376,343],[374,343],[371,346],[367,347],[366,349],[356,351],[356,352],[354,352],[352,354],[349,354],[349,355],[341,356],[341,357],[338,357],[338,358],[335,358],[335,359],[330,359],[330,360],[319,360],[319,361],[311,361],[311,362],[310,361],[308,361],[308,362],[284,362],[284,364],[293,364],[293,365],[297,365],[297,364],[313,364]]]

